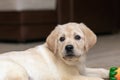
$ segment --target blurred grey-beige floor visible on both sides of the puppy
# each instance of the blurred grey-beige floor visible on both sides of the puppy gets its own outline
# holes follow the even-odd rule
[[[0,43],[0,53],[25,50],[39,44],[41,42],[26,44]],[[98,36],[97,44],[88,53],[87,65],[89,67],[104,67],[107,69],[111,66],[120,67],[120,33]]]

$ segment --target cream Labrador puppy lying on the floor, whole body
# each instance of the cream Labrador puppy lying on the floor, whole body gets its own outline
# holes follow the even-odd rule
[[[105,69],[86,68],[96,35],[83,23],[58,25],[46,43],[0,55],[0,80],[103,80]]]

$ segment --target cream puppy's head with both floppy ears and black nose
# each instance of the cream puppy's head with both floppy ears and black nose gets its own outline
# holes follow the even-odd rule
[[[96,43],[96,35],[83,23],[58,25],[47,38],[48,48],[67,64],[80,62]]]

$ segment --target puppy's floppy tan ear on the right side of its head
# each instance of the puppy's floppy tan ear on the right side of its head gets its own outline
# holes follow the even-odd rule
[[[89,50],[95,45],[97,37],[84,23],[80,23],[80,28],[85,35],[85,47]]]

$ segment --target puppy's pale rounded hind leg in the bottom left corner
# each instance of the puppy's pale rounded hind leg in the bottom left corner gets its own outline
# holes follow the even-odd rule
[[[23,67],[10,60],[0,60],[0,80],[29,80]]]

